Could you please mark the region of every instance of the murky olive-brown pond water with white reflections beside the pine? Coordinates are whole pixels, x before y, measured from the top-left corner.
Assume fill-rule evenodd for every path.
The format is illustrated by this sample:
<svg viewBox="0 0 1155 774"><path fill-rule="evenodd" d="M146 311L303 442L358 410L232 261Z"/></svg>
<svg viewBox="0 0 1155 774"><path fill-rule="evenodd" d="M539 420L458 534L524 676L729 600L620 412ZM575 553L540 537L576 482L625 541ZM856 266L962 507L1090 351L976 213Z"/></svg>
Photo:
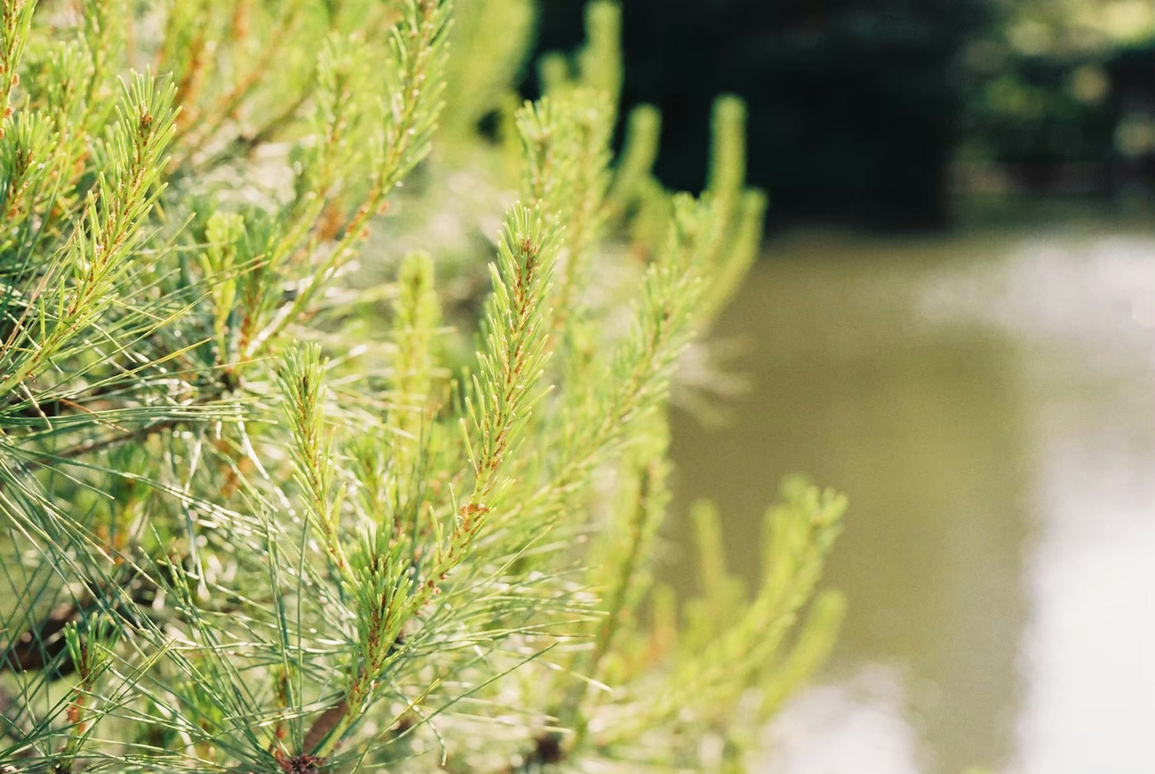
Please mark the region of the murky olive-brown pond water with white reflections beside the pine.
<svg viewBox="0 0 1155 774"><path fill-rule="evenodd" d="M753 578L781 475L851 503L766 772L1155 773L1149 226L777 239L715 337L750 389L676 415L676 511L716 500Z"/></svg>

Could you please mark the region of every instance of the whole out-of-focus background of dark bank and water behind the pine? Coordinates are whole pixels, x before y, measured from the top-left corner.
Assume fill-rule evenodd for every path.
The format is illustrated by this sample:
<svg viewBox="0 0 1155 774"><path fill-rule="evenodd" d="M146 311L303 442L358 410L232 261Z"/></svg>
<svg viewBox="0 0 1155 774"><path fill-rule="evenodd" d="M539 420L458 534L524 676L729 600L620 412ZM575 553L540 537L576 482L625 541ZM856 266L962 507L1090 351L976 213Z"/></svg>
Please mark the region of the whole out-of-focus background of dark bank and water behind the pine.
<svg viewBox="0 0 1155 774"><path fill-rule="evenodd" d="M702 186L733 91L772 202L714 335L745 389L675 417L676 515L716 500L753 576L783 474L851 503L842 640L763 771L1155 772L1155 5L624 6L663 181Z"/></svg>

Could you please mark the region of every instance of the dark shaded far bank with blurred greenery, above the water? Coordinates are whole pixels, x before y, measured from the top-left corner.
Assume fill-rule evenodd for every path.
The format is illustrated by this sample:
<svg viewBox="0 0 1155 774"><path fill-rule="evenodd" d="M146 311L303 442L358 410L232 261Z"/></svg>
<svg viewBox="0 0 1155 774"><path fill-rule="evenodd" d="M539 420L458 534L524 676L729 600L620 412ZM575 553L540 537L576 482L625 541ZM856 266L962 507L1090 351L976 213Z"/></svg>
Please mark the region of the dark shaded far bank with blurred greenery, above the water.
<svg viewBox="0 0 1155 774"><path fill-rule="evenodd" d="M583 5L543 6L538 53L581 43ZM1141 127L1155 120L1155 38L1023 51L1014 35L1029 5L631 0L623 103L662 110L656 171L693 191L711 101L745 97L748 177L770 193L772 229L948 225L976 165L1027 193L1150 195L1155 142ZM537 92L534 73L524 90Z"/></svg>

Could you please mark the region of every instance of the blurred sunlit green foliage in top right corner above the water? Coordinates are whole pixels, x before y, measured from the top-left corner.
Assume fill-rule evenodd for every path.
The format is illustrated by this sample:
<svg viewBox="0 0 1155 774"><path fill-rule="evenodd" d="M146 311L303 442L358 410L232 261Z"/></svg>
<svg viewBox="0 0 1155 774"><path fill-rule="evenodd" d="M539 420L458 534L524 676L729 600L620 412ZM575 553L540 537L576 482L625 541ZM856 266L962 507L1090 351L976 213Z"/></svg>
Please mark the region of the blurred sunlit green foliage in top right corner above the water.
<svg viewBox="0 0 1155 774"><path fill-rule="evenodd" d="M1005 0L964 52L963 158L1053 168L1155 157L1155 7L1142 0ZM1110 178L1101 186L1113 187Z"/></svg>

